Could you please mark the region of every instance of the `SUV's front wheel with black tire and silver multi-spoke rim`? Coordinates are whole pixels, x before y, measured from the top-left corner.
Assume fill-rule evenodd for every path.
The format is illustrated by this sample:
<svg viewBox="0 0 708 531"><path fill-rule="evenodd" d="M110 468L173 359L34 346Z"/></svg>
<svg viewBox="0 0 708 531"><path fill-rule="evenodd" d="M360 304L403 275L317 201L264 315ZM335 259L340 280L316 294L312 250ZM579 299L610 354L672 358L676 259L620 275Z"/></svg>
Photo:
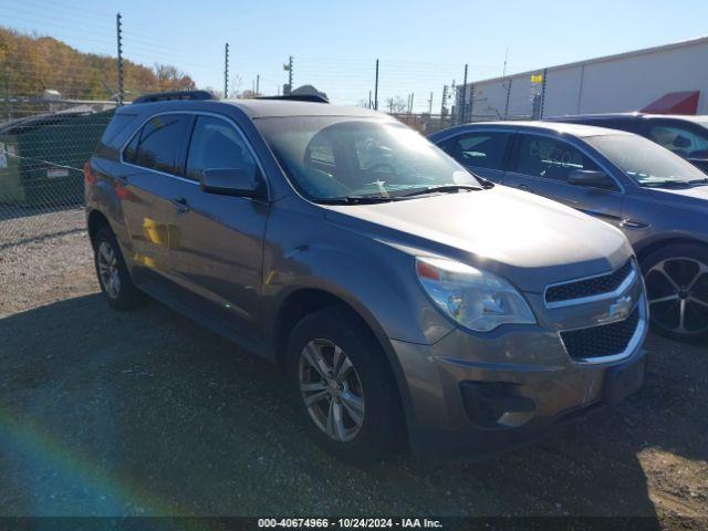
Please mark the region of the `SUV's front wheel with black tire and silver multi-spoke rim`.
<svg viewBox="0 0 708 531"><path fill-rule="evenodd" d="M305 316L290 335L287 362L300 416L321 447L352 465L393 451L402 424L397 387L358 319L337 308Z"/></svg>

